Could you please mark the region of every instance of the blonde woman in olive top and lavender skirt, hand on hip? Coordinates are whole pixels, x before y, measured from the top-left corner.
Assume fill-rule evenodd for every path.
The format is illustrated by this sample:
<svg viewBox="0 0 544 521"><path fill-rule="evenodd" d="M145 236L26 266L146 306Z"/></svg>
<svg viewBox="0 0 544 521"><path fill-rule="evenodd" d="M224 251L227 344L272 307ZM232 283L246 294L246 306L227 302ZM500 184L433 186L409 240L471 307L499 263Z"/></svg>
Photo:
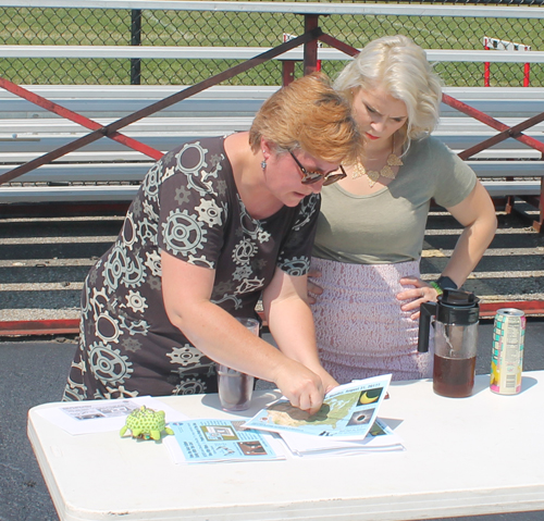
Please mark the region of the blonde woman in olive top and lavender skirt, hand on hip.
<svg viewBox="0 0 544 521"><path fill-rule="evenodd" d="M433 353L417 352L419 307L465 283L494 236L495 210L474 172L430 136L441 82L413 41L370 42L335 88L351 101L367 144L347 177L322 193L318 277L309 285L321 362L339 383L428 377ZM442 276L428 284L419 262L431 199L465 230Z"/></svg>

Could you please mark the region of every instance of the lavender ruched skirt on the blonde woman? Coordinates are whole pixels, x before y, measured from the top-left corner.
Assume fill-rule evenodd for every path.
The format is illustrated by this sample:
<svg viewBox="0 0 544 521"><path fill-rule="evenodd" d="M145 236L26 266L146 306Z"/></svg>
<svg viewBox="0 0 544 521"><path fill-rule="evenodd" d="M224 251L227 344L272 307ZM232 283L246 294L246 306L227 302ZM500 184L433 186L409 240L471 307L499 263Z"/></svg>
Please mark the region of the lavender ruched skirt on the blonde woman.
<svg viewBox="0 0 544 521"><path fill-rule="evenodd" d="M391 373L393 380L432 376L433 343L418 352L415 311L403 311L396 295L403 276L419 277L419 261L348 264L313 258L323 288L311 306L321 363L339 383ZM431 328L432 331L432 328Z"/></svg>

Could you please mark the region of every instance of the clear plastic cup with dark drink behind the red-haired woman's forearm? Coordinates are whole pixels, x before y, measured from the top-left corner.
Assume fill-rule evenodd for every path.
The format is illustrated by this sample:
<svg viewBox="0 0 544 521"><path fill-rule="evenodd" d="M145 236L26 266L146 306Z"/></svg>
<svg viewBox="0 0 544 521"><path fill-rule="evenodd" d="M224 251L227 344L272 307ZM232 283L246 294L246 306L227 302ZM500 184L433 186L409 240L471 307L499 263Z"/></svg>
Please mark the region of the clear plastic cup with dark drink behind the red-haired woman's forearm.
<svg viewBox="0 0 544 521"><path fill-rule="evenodd" d="M254 335L259 336L259 322L255 319L236 319ZM254 376L226 365L218 364L218 392L224 411L245 411L251 405Z"/></svg>

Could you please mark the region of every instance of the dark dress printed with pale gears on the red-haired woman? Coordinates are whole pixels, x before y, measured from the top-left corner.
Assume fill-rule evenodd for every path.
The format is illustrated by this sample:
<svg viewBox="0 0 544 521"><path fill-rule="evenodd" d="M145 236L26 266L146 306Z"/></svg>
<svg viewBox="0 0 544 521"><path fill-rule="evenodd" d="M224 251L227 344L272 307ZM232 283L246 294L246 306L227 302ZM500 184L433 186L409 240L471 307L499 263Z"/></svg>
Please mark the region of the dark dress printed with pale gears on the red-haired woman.
<svg viewBox="0 0 544 521"><path fill-rule="evenodd" d="M223 141L185 144L146 175L116 241L85 281L64 400L217 392L214 362L168 319L161 250L214 269L211 300L234 317L255 315L276 265L308 272L319 196L251 219Z"/></svg>

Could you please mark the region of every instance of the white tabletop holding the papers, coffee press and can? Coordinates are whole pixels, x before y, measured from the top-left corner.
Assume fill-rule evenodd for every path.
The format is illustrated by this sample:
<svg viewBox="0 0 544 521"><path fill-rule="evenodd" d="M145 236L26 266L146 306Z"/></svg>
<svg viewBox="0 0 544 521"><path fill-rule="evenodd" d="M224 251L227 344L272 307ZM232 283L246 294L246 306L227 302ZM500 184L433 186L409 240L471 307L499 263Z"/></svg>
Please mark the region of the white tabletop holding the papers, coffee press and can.
<svg viewBox="0 0 544 521"><path fill-rule="evenodd" d="M174 464L154 442L72 436L30 409L28 436L65 520L411 520L544 509L544 371L516 396L477 376L469 398L431 381L394 382L380 418L401 452ZM258 392L250 417L276 399ZM191 418L235 418L217 395L161 398Z"/></svg>

